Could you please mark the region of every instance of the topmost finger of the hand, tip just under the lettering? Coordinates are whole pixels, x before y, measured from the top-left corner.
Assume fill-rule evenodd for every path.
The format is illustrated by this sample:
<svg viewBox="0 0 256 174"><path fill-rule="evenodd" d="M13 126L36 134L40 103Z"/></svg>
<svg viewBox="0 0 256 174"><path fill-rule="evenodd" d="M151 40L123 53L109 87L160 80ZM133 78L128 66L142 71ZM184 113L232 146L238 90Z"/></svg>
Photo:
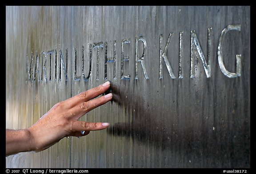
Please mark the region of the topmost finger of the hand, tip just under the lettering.
<svg viewBox="0 0 256 174"><path fill-rule="evenodd" d="M110 87L110 82L107 81L102 85L97 86L96 88L89 89L88 91L77 94L74 97L67 99L65 102L69 104L69 107L72 108L77 104L80 104L85 101L89 101L95 97L98 97L100 94L106 92Z"/></svg>

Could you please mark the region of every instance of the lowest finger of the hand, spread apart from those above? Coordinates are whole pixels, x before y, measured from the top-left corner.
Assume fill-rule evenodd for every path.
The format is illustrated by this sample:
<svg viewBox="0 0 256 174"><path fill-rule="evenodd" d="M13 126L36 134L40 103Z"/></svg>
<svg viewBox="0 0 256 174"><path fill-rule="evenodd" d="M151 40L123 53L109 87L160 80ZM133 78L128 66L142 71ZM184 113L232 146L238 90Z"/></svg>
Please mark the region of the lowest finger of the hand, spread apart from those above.
<svg viewBox="0 0 256 174"><path fill-rule="evenodd" d="M91 123L85 121L73 121L72 131L84 131L84 134L88 131L98 131L108 128L109 123ZM89 132L88 132L89 133Z"/></svg>

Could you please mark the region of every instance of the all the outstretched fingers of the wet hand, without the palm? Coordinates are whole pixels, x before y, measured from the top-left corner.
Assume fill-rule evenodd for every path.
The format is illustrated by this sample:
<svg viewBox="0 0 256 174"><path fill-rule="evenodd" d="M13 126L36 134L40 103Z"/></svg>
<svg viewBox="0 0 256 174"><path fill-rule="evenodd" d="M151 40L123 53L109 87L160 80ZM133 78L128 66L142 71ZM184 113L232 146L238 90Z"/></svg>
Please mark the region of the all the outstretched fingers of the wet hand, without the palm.
<svg viewBox="0 0 256 174"><path fill-rule="evenodd" d="M68 120L72 123L69 124L69 135L66 136L85 136L88 135L90 131L97 131L108 128L108 123L90 123L84 121L78 121L78 119L85 113L91 111L94 108L99 107L102 104L107 103L112 100L112 93L95 98L100 94L106 92L110 87L110 82L99 85L96 88L89 89L83 93L80 93L66 101L62 102L62 105L67 109L65 116L68 114ZM93 99L94 98L94 99Z"/></svg>

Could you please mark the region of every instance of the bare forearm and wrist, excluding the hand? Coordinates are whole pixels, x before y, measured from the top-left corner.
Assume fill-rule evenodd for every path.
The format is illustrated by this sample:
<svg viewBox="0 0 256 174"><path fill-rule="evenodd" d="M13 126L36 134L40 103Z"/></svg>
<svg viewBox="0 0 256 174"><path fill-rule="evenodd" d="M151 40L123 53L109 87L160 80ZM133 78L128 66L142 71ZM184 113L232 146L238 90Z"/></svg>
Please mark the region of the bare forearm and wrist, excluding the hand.
<svg viewBox="0 0 256 174"><path fill-rule="evenodd" d="M6 129L6 156L19 152L33 151L33 138L27 129Z"/></svg>

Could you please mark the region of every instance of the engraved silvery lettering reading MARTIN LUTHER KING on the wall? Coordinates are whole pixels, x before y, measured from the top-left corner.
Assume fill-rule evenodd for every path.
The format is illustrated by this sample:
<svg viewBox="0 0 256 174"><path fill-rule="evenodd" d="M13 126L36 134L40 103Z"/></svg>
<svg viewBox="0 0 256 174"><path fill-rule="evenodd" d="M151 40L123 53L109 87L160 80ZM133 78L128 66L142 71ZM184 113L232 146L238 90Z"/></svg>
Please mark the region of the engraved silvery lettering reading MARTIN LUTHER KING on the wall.
<svg viewBox="0 0 256 174"><path fill-rule="evenodd" d="M220 34L219 40L218 40L218 46L217 46L217 56L218 56L218 64L220 66L221 72L229 78L232 77L240 77L241 76L241 54L236 54L236 70L235 72L229 72L226 67L224 66L224 61L223 61L223 46L224 46L224 39L226 39L226 35L228 31L239 31L241 30L241 25L240 24L232 24L228 25L225 27ZM170 40L172 37L173 33L169 33L168 39L166 44L164 45L164 37L161 34L159 36L160 38L160 63L159 63L159 79L163 78L163 64L165 64L169 76L172 79L175 79L176 76L173 73L172 65L169 62L167 57L167 52L168 48L170 45ZM212 66L212 49L213 49L213 44L212 44L212 27L208 27L207 30L207 44L206 44L206 51L207 54L205 55L202 49L202 46L200 45L198 36L196 34L196 31L192 30L190 31L190 72L188 70L188 74L190 73L190 77L193 78L195 77L195 71L196 71L196 66L199 65L199 62L202 62L202 66L204 67L204 72L206 74L206 77L209 78L211 77L211 66ZM140 42L141 41L141 42ZM229 40L227 40L229 41ZM176 41L178 43L178 40ZM125 45L126 44L126 45ZM126 68L124 64L129 63L129 54L130 52L125 52L125 51L131 51L131 50L126 50L131 48L131 39L122 39L121 40L121 55L120 55L120 61L121 61L121 66L120 66L120 75L121 75L121 80L130 80L131 75L130 74L125 74L124 69ZM180 31L179 32L179 79L182 79L184 77L184 63L186 57L184 57L184 32ZM150 44L152 45L152 44ZM112 44L111 44L112 46ZM101 56L100 50L103 50L104 47L104 56ZM82 46L82 56L81 56L81 65L80 65L80 55L78 56L77 54L77 48L74 47L74 54L71 55L71 59L74 61L74 75L72 79L74 81L80 81L81 80L81 75L83 80L86 82L89 80L92 74L92 51L93 49L96 48L96 77L95 79L99 81L99 73L104 71L104 74L102 74L104 77L104 81L107 81L108 79L113 78L113 80L116 80L117 78L117 73L119 70L117 68L119 66L116 66L116 61L118 59L117 57L117 47L116 47L116 40L113 41L113 54L109 54L110 52L112 53L112 50L110 51L108 48L108 42L105 41L99 42L99 43L93 43L93 44L88 44L88 59L85 60L85 55L84 55L84 45ZM111 47L112 48L112 47ZM146 42L146 39L144 36L140 37L135 37L135 79L137 80L139 78L139 69L140 65L142 68L142 72L144 74L145 79L149 79L148 76L148 71L146 70L146 65L147 63L150 63L150 61L154 60L152 58L151 60L146 59L145 62L145 57L150 57L152 55L147 54L148 51L148 45ZM156 50L155 50L156 51ZM57 55L59 54L59 55ZM142 54L142 55L140 55ZM74 57L73 57L74 56ZM58 52L57 50L48 50L48 51L41 51L41 52L31 52L31 54L27 54L27 61L26 61L26 82L40 82L40 81L52 81L54 79L55 81L61 81L62 78L65 78L65 81L68 81L68 76L71 74L72 71L68 71L68 49L65 48L65 53L64 49L60 49ZM79 57L79 59L78 59ZM172 58L172 56L170 56ZM100 61L104 61L104 70L100 70ZM104 60L103 60L104 59ZM189 59L189 58L188 58ZM200 60L199 60L200 59ZM189 60L188 60L189 61ZM88 62L88 64L87 64ZM127 62L127 63L125 63ZM103 63L103 62L102 62ZM113 64L112 64L113 63ZM140 65L139 65L140 64ZM73 66L72 65L72 66ZM88 66L85 66L88 65ZM178 66L178 65L176 65ZM110 67L113 67L111 69ZM153 66L152 66L153 67ZM82 74L80 74L80 68ZM112 70L113 70L113 75L112 75ZM111 73L108 74L108 73ZM54 76L54 77L53 77Z"/></svg>

